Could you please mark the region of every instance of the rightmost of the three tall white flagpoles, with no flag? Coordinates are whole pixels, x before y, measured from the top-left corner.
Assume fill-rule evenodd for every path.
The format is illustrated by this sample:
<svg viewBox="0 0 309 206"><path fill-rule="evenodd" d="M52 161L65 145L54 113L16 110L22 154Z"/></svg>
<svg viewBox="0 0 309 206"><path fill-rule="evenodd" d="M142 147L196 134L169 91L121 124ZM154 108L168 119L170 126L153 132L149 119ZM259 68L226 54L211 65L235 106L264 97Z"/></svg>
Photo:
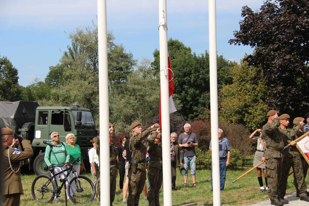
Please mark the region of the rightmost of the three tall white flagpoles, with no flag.
<svg viewBox="0 0 309 206"><path fill-rule="evenodd" d="M212 147L213 204L221 205L220 168L219 168L219 134L218 134L218 82L217 82L217 32L216 0L208 1L209 9L209 61L210 61L210 123Z"/></svg>

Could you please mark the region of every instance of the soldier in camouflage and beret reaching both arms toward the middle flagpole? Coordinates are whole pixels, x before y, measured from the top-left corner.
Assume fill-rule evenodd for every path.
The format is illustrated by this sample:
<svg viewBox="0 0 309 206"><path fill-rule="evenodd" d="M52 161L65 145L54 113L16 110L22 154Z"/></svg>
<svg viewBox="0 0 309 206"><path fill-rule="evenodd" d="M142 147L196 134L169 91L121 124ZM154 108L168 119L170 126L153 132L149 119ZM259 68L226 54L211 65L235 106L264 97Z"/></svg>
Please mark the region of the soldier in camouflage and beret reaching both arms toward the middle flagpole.
<svg viewBox="0 0 309 206"><path fill-rule="evenodd" d="M139 196L143 191L146 180L146 144L143 141L148 136L152 128L158 128L159 124L154 124L147 129L142 130L139 122L131 124L133 137L129 141L129 149L132 152L132 159L129 164L129 196L128 206L137 206Z"/></svg>

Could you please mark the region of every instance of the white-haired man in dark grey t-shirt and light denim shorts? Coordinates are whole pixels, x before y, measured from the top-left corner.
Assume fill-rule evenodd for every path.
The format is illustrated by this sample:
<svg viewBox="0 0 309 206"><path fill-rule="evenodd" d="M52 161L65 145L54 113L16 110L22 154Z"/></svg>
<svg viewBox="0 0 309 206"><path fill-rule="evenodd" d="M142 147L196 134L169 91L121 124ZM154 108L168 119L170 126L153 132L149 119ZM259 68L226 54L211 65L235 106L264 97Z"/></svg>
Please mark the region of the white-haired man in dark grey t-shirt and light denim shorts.
<svg viewBox="0 0 309 206"><path fill-rule="evenodd" d="M184 125L184 133L179 135L178 143L179 147L182 148L182 152L184 153L184 168L186 169L186 174L184 174L184 184L182 186L187 185L188 180L188 169L190 164L191 176L193 181L193 186L197 187L197 183L195 183L195 175L196 175L196 152L195 147L198 146L197 136L195 133L190 131L191 125Z"/></svg>

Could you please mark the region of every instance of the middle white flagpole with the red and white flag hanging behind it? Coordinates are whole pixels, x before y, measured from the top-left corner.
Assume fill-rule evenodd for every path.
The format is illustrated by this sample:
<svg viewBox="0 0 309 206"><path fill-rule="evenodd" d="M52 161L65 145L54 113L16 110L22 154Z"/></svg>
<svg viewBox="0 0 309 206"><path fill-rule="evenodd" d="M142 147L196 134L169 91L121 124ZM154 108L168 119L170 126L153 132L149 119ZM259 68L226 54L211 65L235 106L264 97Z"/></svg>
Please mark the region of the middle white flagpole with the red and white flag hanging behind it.
<svg viewBox="0 0 309 206"><path fill-rule="evenodd" d="M172 205L171 183L171 145L170 145L170 112L168 91L167 60L167 15L166 0L159 0L159 44L160 44L160 87L161 87L161 126L163 157L163 200L164 206Z"/></svg>

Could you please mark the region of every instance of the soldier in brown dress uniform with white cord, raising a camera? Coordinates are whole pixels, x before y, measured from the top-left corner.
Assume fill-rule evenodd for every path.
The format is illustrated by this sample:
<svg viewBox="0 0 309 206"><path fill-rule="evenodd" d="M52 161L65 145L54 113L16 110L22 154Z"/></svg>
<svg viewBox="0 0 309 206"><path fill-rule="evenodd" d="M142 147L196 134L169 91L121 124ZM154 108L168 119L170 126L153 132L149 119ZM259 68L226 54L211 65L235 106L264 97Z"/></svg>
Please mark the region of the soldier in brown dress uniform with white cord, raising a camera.
<svg viewBox="0 0 309 206"><path fill-rule="evenodd" d="M20 202L20 194L23 194L23 186L20 178L21 161L31 158L33 156L33 150L29 140L22 141L24 151L12 148L19 141L13 138L13 130L9 128L1 129L1 139L4 157L3 205L17 206Z"/></svg>

